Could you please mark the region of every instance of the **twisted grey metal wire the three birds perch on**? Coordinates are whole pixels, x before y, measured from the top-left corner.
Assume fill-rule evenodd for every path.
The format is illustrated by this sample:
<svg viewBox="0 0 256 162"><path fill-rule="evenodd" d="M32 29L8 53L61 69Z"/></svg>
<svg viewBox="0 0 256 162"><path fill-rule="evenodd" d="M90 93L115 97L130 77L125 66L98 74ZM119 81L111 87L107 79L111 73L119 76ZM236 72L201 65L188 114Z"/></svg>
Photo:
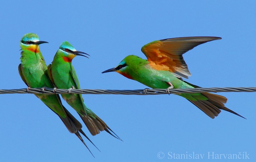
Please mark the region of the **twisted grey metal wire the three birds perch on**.
<svg viewBox="0 0 256 162"><path fill-rule="evenodd" d="M0 89L0 94L110 94L110 95L162 95L177 93L203 92L256 92L256 87L227 87L227 88L188 88L188 89L137 89L137 90L105 90L105 89L57 89L57 88L22 88Z"/></svg>

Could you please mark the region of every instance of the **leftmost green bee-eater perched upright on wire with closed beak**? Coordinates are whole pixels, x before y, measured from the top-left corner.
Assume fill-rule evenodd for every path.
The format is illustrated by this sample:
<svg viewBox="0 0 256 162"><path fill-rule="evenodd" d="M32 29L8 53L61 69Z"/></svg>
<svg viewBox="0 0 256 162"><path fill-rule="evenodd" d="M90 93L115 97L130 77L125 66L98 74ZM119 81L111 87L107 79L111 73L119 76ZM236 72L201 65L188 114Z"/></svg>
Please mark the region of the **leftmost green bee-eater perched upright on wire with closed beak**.
<svg viewBox="0 0 256 162"><path fill-rule="evenodd" d="M39 41L39 37L33 33L25 34L20 41L21 64L19 65L19 74L21 79L30 88L53 88L53 84L47 73L47 66L39 50L39 45L42 43L48 42ZM62 105L59 95L36 94L36 97L38 97L46 106L56 113L60 117L61 121L65 124L69 132L76 134L76 136L87 147L80 133L82 133L90 142L91 140L83 132L82 124L76 120L76 118L72 116ZM87 149L89 150L88 147Z"/></svg>

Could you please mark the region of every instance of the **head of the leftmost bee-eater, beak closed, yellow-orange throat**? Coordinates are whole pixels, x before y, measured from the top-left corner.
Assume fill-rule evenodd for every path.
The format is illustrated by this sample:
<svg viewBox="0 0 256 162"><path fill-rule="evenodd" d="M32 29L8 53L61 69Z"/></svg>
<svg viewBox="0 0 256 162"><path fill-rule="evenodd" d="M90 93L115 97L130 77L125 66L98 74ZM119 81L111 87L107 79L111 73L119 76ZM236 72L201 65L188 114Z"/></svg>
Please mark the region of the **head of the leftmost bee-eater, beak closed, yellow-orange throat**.
<svg viewBox="0 0 256 162"><path fill-rule="evenodd" d="M48 43L45 41L39 41L38 35L34 33L25 34L20 40L20 47L22 50L29 50L37 53L39 50L38 45Z"/></svg>

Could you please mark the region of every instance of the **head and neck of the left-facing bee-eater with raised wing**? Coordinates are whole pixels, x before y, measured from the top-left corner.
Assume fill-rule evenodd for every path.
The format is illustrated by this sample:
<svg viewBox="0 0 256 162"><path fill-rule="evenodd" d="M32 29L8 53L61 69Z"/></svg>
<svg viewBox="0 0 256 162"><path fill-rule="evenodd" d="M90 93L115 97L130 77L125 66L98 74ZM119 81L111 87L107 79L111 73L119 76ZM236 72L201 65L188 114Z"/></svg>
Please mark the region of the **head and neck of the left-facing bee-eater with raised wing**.
<svg viewBox="0 0 256 162"><path fill-rule="evenodd" d="M126 56L116 67L105 70L102 74L115 71L129 79L132 79L132 75L136 72L142 61L143 59L138 56L129 55Z"/></svg>

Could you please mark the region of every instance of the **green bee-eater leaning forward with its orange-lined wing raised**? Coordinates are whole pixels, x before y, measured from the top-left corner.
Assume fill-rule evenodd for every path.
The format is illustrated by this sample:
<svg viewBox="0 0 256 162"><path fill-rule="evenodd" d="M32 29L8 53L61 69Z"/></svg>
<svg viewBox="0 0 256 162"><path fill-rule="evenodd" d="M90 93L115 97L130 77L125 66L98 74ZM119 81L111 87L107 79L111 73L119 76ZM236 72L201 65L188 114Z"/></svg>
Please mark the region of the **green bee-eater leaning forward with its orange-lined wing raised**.
<svg viewBox="0 0 256 162"><path fill-rule="evenodd" d="M129 55L116 67L102 73L115 71L151 88L199 88L196 85L183 81L181 78L191 76L182 54L200 44L218 39L221 38L183 37L156 40L141 48L141 51L148 60L141 59L135 55ZM212 119L218 116L221 111L220 109L241 116L224 106L227 98L221 95L211 93L182 93L177 95L186 98Z"/></svg>

